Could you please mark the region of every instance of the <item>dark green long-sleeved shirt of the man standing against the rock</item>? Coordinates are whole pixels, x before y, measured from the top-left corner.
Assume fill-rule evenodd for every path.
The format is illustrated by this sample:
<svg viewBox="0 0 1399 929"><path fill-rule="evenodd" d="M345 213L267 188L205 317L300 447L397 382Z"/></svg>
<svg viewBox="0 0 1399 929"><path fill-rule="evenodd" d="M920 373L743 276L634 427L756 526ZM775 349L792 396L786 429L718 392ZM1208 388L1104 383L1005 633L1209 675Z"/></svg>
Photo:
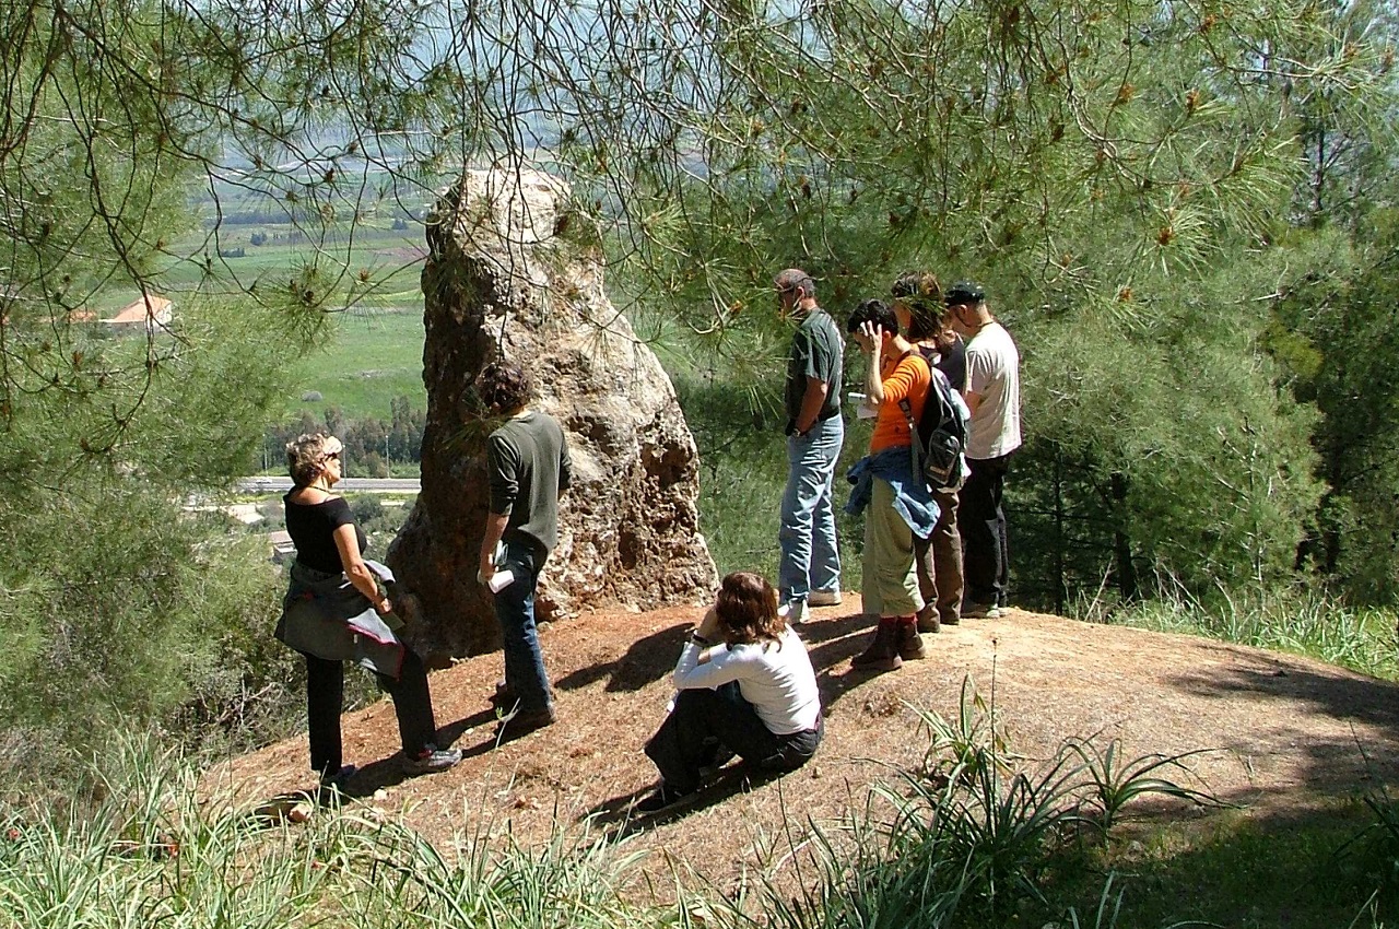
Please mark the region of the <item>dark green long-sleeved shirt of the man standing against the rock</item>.
<svg viewBox="0 0 1399 929"><path fill-rule="evenodd" d="M574 477L564 430L530 410L491 432L485 448L491 512L509 515L505 537L527 536L544 551L558 544L558 495Z"/></svg>

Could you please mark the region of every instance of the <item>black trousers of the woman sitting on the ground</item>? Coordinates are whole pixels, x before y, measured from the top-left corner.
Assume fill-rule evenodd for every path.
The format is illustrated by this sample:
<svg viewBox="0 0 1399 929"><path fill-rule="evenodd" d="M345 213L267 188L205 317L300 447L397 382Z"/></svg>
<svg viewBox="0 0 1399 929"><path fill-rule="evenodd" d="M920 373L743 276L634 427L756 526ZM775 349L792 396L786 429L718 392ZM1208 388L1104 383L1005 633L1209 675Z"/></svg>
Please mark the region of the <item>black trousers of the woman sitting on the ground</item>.
<svg viewBox="0 0 1399 929"><path fill-rule="evenodd" d="M748 764L793 771L816 754L823 732L818 723L814 732L774 735L743 698L739 683L730 681L676 694L676 708L646 743L646 754L666 786L690 793L700 788L700 768L713 761L719 743Z"/></svg>

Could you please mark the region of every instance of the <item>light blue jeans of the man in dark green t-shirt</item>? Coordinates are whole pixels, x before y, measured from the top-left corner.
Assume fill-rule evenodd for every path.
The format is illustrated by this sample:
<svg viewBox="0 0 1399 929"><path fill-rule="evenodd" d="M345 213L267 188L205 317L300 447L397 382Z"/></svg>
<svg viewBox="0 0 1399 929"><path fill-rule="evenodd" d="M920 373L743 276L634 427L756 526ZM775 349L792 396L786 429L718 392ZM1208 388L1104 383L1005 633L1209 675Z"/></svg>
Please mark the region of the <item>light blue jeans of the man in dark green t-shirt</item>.
<svg viewBox="0 0 1399 929"><path fill-rule="evenodd" d="M782 494L778 596L806 600L811 590L841 589L831 483L845 441L841 416L821 420L806 435L788 437L788 485Z"/></svg>

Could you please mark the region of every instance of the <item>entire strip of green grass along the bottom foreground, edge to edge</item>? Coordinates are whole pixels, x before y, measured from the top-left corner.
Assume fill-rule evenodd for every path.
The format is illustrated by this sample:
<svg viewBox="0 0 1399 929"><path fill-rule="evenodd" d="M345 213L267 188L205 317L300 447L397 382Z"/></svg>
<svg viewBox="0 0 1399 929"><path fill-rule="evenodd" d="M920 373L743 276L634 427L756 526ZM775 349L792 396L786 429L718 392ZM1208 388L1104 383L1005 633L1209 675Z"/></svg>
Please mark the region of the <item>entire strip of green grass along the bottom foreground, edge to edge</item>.
<svg viewBox="0 0 1399 929"><path fill-rule="evenodd" d="M964 687L956 719L919 711L923 760L867 796L856 788L845 820L790 810L790 839L811 856L803 887L758 872L743 894L681 886L669 907L644 897L625 844L586 825L534 848L488 841L508 834L499 824L435 848L358 803L288 825L277 813L295 797L260 811L207 803L193 760L118 735L85 789L0 804L0 925L1374 929L1393 912L1399 811L1386 799L1143 817L1084 763L1101 746L1027 761L990 714ZM1170 796L1170 761L1121 760L1114 796Z"/></svg>

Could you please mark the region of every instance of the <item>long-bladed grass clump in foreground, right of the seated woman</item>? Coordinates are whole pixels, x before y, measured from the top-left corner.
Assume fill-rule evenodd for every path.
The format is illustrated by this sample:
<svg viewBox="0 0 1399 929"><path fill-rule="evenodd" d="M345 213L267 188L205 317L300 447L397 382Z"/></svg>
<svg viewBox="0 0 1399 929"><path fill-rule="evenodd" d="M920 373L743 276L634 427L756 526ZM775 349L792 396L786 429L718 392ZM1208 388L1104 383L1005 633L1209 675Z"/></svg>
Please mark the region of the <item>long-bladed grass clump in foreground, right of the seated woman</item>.
<svg viewBox="0 0 1399 929"><path fill-rule="evenodd" d="M758 911L782 929L1115 926L1122 891L1108 874L1079 901L1086 852L1146 796L1210 803L1167 775L1185 756L1123 760L1121 744L1066 740L1039 764L1014 756L970 679L956 719L918 709L929 750L921 768L876 786L839 828L814 828L817 888L768 884ZM1060 891L1060 886L1073 890ZM1035 922L1039 921L1039 922Z"/></svg>

